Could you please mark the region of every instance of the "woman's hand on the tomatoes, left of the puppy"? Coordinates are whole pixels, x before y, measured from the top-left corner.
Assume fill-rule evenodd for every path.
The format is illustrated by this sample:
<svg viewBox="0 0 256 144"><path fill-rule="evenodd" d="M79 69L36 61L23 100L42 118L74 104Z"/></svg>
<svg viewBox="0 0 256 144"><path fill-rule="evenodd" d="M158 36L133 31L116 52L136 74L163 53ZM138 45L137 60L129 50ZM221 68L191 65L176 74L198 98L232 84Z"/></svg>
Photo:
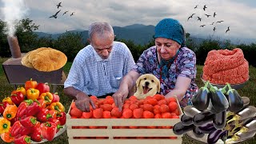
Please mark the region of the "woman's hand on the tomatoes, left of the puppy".
<svg viewBox="0 0 256 144"><path fill-rule="evenodd" d="M114 98L115 106L118 106L119 111L122 111L123 102L127 98L129 90L119 89L116 93L112 95Z"/></svg>

